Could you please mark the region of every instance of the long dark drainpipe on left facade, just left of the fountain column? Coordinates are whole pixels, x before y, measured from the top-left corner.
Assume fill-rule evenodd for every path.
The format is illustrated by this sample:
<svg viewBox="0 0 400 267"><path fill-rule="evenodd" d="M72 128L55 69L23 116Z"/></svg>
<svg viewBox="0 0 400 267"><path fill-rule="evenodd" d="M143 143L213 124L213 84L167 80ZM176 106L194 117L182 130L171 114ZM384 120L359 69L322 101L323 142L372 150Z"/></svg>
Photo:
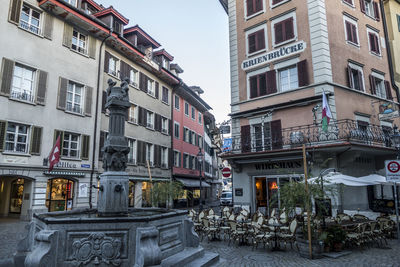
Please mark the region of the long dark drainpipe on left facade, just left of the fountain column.
<svg viewBox="0 0 400 267"><path fill-rule="evenodd" d="M103 45L106 40L111 37L113 33L113 29L110 29L110 33L103 39L99 49L99 66L97 68L97 90L96 90L96 109L94 113L94 130L93 130L93 151L92 151L92 171L90 172L90 185L89 185L89 208L93 207L92 204L92 189L93 189L93 175L94 175L94 164L96 159L96 138L97 138L97 117L98 117L98 109L99 109L99 94L100 94L100 74L101 74L101 55ZM101 148L100 148L101 149Z"/></svg>

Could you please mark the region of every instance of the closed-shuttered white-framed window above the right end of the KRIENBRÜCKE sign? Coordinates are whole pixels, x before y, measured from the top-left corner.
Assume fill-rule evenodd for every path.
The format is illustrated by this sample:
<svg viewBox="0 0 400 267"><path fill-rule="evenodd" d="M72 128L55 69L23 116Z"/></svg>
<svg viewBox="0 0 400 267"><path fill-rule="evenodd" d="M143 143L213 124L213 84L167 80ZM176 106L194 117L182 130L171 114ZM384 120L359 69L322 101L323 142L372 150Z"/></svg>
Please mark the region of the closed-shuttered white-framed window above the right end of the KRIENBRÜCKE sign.
<svg viewBox="0 0 400 267"><path fill-rule="evenodd" d="M275 45L287 43L297 37L296 17L294 13L288 14L272 22L273 43Z"/></svg>

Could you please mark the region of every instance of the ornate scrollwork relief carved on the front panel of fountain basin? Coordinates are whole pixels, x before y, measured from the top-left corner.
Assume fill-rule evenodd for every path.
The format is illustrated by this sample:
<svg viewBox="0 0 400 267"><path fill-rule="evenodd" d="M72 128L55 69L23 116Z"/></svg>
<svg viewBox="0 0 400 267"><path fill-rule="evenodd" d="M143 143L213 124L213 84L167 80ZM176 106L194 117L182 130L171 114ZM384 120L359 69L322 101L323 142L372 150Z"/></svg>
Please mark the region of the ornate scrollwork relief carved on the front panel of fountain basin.
<svg viewBox="0 0 400 267"><path fill-rule="evenodd" d="M98 265L121 265L121 240L106 236L104 233L91 233L88 237L72 244L73 258L78 266L88 263Z"/></svg>

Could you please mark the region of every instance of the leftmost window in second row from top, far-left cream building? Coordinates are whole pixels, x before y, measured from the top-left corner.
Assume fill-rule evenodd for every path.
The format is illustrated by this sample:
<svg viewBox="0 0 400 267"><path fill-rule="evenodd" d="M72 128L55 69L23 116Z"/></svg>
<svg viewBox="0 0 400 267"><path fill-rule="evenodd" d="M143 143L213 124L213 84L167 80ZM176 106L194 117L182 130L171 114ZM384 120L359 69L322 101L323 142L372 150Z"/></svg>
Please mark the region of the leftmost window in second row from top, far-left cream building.
<svg viewBox="0 0 400 267"><path fill-rule="evenodd" d="M15 64L11 87L11 98L33 102L35 70Z"/></svg>

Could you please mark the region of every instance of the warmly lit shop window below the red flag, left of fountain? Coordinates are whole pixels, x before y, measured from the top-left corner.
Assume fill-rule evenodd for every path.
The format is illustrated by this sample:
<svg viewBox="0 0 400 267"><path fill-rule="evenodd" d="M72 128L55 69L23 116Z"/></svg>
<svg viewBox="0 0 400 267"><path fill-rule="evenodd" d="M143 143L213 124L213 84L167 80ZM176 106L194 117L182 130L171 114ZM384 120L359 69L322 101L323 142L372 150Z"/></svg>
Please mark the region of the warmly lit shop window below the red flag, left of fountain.
<svg viewBox="0 0 400 267"><path fill-rule="evenodd" d="M46 207L49 211L72 210L74 181L54 178L47 181Z"/></svg>

